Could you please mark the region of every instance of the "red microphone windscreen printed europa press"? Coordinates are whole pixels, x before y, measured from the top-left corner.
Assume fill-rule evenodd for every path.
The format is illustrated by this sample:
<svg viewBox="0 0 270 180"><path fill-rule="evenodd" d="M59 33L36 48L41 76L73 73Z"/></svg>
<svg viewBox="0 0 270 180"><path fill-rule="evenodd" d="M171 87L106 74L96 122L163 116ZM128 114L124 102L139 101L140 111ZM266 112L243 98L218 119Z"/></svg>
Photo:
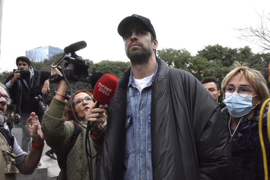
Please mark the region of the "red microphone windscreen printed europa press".
<svg viewBox="0 0 270 180"><path fill-rule="evenodd" d="M118 85L115 75L105 74L97 82L93 91L94 100L107 104L114 96Z"/></svg>

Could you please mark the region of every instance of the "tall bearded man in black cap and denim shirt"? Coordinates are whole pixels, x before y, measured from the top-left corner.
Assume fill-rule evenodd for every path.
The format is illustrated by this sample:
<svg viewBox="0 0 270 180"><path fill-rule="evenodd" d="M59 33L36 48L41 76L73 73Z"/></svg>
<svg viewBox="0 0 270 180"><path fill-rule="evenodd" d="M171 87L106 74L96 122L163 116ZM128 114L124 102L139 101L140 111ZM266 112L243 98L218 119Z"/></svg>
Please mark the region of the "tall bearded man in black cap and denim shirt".
<svg viewBox="0 0 270 180"><path fill-rule="evenodd" d="M118 80L97 179L231 179L220 107L194 76L156 56L148 18L118 25L131 67Z"/></svg>

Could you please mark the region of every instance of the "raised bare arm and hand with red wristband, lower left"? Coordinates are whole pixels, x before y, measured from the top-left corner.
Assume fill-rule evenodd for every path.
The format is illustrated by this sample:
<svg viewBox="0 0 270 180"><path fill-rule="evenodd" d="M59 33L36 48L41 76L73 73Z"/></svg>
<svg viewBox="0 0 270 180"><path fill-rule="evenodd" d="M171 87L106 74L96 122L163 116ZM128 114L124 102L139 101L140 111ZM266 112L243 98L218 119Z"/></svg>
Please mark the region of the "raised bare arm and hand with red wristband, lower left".
<svg viewBox="0 0 270 180"><path fill-rule="evenodd" d="M44 146L44 138L41 131L41 125L35 113L32 112L30 114L26 125L29 126L27 130L33 139L32 148L25 156L24 161L18 165L18 168L21 174L32 174L40 161Z"/></svg>

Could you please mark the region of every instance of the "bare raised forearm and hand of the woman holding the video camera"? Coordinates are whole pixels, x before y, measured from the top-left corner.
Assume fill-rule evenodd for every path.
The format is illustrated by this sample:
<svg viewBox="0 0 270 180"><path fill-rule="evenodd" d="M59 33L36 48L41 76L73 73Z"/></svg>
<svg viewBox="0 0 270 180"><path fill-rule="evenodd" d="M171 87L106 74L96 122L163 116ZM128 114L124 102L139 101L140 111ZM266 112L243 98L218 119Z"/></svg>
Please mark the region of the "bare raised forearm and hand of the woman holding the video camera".
<svg viewBox="0 0 270 180"><path fill-rule="evenodd" d="M58 75L61 75L61 72L58 70L58 69L61 69L60 66L58 66L57 68L52 68L51 67L51 75L55 75L55 74L58 74ZM57 83L57 86L58 86L58 89L57 89L57 92L55 94L55 98L60 100L60 101L63 101L64 99L64 95L66 93L66 79L62 79L60 80L58 83Z"/></svg>

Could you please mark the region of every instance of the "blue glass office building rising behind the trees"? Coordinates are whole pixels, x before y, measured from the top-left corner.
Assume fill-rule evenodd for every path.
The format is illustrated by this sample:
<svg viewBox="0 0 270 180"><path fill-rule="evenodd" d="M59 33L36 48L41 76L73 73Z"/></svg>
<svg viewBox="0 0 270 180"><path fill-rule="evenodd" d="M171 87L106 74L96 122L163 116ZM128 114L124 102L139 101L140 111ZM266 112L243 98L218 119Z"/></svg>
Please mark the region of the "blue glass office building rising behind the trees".
<svg viewBox="0 0 270 180"><path fill-rule="evenodd" d="M25 56L33 62L40 62L44 59L50 59L54 54L63 53L64 50L53 46L44 46L25 51Z"/></svg>

